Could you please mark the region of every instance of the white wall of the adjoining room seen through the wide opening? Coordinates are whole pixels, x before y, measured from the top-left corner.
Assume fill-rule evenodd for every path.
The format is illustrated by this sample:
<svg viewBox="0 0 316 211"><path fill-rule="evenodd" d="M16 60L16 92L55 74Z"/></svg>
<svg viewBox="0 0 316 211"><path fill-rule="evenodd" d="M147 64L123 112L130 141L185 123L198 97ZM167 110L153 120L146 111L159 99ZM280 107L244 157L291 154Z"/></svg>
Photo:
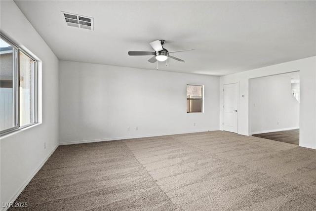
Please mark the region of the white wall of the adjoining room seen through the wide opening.
<svg viewBox="0 0 316 211"><path fill-rule="evenodd" d="M250 79L249 96L252 134L299 128L300 105L289 77Z"/></svg>

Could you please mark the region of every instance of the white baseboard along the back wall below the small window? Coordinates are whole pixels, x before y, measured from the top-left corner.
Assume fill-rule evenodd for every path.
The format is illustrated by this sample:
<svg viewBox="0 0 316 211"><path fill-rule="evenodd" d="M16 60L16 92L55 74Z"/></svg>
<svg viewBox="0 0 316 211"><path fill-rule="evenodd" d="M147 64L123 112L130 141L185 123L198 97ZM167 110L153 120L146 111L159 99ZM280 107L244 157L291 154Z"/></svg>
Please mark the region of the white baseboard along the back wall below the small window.
<svg viewBox="0 0 316 211"><path fill-rule="evenodd" d="M133 139L133 138L148 138L148 137L155 137L155 136L178 135L178 134L207 132L207 131L215 131L215 130L218 130L218 128L210 129L210 130L189 131L189 132L185 131L185 132L176 132L176 133L163 133L163 134L140 135L140 136L123 136L123 137L116 137L116 138L103 138L103 139L82 140L82 141L67 141L67 142L61 142L61 143L59 143L59 145L85 144L85 143L102 142L102 141L116 141L116 140L125 140L125 139Z"/></svg>

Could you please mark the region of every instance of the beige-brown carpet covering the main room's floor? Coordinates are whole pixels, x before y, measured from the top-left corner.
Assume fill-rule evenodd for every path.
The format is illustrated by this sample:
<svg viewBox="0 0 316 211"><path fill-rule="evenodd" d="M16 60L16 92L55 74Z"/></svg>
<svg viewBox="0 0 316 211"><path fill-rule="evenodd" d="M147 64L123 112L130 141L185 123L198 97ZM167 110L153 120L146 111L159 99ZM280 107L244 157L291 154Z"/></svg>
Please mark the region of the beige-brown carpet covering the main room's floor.
<svg viewBox="0 0 316 211"><path fill-rule="evenodd" d="M312 211L316 150L223 131L60 146L16 202L31 211Z"/></svg>

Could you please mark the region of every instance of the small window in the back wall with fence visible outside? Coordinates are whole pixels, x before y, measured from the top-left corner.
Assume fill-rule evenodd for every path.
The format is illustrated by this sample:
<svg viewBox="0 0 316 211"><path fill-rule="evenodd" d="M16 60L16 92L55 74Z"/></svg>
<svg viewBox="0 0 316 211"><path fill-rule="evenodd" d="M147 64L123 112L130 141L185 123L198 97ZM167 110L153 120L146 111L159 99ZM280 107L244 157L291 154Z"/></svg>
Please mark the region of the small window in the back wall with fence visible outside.
<svg viewBox="0 0 316 211"><path fill-rule="evenodd" d="M203 112L203 85L187 84L187 113Z"/></svg>

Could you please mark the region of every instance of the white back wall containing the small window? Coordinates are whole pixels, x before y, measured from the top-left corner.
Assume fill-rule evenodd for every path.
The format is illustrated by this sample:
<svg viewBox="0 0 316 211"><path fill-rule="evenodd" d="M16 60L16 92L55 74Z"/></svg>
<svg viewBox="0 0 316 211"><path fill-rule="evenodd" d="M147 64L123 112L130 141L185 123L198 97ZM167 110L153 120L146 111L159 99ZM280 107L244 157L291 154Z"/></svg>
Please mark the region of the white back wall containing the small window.
<svg viewBox="0 0 316 211"><path fill-rule="evenodd" d="M61 144L219 129L219 77L70 61L59 71ZM204 85L204 113L186 113L187 84Z"/></svg>

